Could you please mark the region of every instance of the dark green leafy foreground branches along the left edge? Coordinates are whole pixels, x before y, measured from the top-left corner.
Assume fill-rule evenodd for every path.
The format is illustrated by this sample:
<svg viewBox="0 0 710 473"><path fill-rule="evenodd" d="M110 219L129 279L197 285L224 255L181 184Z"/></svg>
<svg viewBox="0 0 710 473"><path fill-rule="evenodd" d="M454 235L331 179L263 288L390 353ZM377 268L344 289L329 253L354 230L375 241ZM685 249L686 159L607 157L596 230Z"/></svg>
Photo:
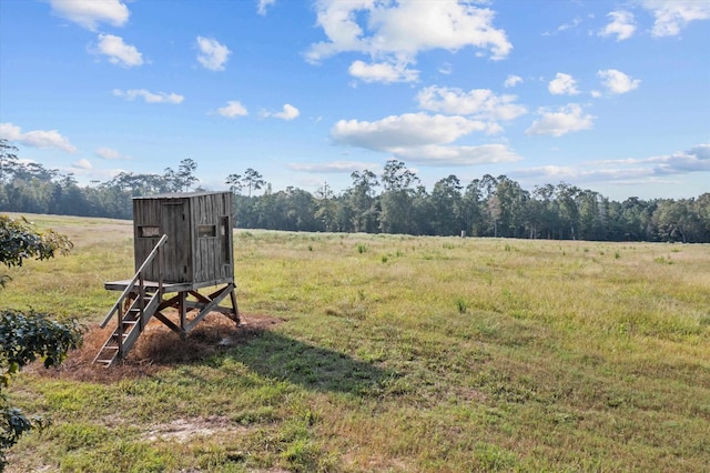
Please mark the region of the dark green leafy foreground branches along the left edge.
<svg viewBox="0 0 710 473"><path fill-rule="evenodd" d="M62 234L51 230L41 233L24 219L0 215L0 263L8 268L20 266L28 258L45 260L70 249L71 242ZM2 286L8 279L0 278ZM41 417L30 420L10 404L6 390L11 376L37 359L42 359L45 368L57 366L80 343L75 321L59 323L36 312L0 311L0 471L7 464L6 451L23 433L45 425Z"/></svg>

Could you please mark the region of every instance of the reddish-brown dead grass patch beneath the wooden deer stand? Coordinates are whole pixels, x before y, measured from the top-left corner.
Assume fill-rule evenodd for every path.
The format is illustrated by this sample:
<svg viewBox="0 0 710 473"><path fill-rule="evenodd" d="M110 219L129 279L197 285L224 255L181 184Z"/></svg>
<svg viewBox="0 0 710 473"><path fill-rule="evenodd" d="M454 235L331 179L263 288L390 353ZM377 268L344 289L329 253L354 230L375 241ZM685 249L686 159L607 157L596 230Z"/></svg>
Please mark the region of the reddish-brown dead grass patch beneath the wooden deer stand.
<svg viewBox="0 0 710 473"><path fill-rule="evenodd" d="M179 324L175 315L169 318ZM213 312L207 314L184 340L159 320L153 319L135 342L124 361L111 366L93 364L93 359L108 340L114 326L105 329L98 324L88 326L83 344L73 350L58 369L45 370L41 363L28 366L28 372L40 376L63 380L113 383L121 380L140 379L153 375L180 363L204 360L230 346L239 345L258 336L263 331L283 322L281 319L264 314L241 314L242 324Z"/></svg>

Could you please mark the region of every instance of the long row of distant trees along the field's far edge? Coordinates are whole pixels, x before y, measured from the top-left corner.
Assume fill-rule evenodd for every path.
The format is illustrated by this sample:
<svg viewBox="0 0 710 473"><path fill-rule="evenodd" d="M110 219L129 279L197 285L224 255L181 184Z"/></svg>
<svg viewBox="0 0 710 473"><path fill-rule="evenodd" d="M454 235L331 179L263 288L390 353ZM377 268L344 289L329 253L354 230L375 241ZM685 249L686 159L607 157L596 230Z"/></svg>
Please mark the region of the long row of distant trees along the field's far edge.
<svg viewBox="0 0 710 473"><path fill-rule="evenodd" d="M72 174L21 162L7 141L0 147L0 211L131 219L133 197L205 190L192 159L162 174L123 172L80 187ZM468 183L450 174L428 191L398 160L387 161L381 175L364 170L351 178L339 193L327 183L314 193L294 187L274 191L250 168L229 174L225 184L235 195L235 225L243 229L710 242L710 193L618 202L564 182L528 191L506 175L490 174Z"/></svg>

